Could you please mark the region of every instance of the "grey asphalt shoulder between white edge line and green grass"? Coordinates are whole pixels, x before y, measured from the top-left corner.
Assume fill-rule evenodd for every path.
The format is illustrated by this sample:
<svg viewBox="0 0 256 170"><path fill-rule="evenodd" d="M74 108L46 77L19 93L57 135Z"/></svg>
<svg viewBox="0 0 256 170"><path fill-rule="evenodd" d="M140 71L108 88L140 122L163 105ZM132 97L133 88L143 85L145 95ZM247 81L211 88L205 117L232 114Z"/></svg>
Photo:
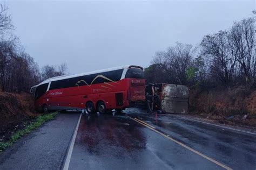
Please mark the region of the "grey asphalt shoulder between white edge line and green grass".
<svg viewBox="0 0 256 170"><path fill-rule="evenodd" d="M59 114L55 120L19 139L0 153L0 169L59 169L79 114Z"/></svg>

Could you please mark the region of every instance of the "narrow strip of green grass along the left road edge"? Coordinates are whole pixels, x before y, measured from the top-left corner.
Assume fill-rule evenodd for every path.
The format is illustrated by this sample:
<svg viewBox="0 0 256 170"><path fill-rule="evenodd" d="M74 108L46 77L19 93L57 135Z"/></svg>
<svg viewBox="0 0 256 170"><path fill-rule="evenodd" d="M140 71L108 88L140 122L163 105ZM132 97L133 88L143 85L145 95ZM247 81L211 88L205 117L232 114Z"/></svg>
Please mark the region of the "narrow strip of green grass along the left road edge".
<svg viewBox="0 0 256 170"><path fill-rule="evenodd" d="M39 128L42 124L44 124L47 121L50 121L51 119L55 118L57 116L58 112L53 112L51 114L38 116L36 118L36 121L27 125L25 129L19 130L15 134L12 134L10 139L8 141L2 142L0 141L0 152L5 150L5 148L11 146L14 144L19 138L24 136L25 134L30 133L32 130Z"/></svg>

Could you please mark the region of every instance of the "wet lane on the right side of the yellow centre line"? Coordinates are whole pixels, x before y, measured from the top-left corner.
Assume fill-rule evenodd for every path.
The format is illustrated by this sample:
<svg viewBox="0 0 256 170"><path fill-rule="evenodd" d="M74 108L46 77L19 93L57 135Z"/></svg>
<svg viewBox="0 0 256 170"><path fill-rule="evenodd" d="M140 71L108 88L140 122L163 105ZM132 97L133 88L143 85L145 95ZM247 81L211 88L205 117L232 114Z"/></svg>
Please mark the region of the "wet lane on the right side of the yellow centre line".
<svg viewBox="0 0 256 170"><path fill-rule="evenodd" d="M181 143L233 169L256 169L256 136L172 115L133 114Z"/></svg>

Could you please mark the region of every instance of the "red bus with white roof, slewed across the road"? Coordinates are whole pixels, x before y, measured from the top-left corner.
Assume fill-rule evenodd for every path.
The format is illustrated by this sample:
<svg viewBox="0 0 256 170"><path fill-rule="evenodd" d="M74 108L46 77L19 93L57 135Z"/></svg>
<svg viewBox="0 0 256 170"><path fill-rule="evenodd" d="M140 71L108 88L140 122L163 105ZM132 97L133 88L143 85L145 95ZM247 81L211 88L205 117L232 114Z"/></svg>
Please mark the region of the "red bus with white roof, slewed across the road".
<svg viewBox="0 0 256 170"><path fill-rule="evenodd" d="M86 109L103 114L145 101L145 79L142 67L119 66L52 77L31 87L31 93L39 111Z"/></svg>

